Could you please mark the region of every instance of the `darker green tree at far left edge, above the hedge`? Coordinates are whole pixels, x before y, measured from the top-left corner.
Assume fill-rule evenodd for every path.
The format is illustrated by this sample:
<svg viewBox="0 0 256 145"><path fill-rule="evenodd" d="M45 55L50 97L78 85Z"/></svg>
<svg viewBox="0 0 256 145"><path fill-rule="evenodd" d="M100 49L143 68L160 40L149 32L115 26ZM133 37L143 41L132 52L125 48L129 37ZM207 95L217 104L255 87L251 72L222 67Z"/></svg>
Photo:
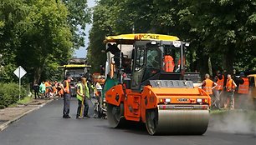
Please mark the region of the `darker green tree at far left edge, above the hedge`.
<svg viewBox="0 0 256 145"><path fill-rule="evenodd" d="M20 44L18 31L28 13L28 5L23 0L0 1L0 54L1 58L0 81L13 82L13 71L17 65L15 56Z"/></svg>

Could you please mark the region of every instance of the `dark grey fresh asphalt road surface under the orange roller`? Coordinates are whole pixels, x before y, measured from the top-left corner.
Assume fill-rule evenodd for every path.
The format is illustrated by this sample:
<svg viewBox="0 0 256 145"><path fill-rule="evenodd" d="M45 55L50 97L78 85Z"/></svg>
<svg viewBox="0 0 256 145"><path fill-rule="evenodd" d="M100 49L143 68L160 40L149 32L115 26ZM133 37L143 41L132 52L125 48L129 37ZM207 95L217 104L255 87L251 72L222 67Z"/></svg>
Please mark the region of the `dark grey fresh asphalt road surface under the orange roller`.
<svg viewBox="0 0 256 145"><path fill-rule="evenodd" d="M0 133L0 145L253 145L253 132L234 132L210 122L207 133L202 136L150 136L144 126L114 129L105 119L75 119L77 102L71 101L70 119L62 118L63 100L55 100L14 122ZM90 115L92 107L90 107ZM231 120L237 120L233 118ZM229 121L229 120L228 120ZM220 122L217 122L220 123ZM240 127L239 130L243 130Z"/></svg>

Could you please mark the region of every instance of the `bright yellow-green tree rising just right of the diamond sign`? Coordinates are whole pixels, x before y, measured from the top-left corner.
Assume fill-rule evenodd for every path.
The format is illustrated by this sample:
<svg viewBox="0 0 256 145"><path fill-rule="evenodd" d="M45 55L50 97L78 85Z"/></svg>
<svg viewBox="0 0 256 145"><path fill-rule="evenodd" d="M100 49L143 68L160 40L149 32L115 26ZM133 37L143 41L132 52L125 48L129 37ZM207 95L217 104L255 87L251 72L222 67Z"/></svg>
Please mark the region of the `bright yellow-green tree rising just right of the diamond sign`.
<svg viewBox="0 0 256 145"><path fill-rule="evenodd" d="M16 61L39 81L47 62L60 62L71 57L72 34L67 23L68 10L55 0L28 2L26 30L20 32Z"/></svg>

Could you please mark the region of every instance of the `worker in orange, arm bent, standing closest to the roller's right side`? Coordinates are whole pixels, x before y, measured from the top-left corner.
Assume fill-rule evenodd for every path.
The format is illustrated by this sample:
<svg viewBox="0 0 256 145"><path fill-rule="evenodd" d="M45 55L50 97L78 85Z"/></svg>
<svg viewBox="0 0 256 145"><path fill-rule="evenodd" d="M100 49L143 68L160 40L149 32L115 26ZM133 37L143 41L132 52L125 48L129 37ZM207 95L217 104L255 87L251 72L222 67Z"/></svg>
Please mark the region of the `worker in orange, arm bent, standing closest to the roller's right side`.
<svg viewBox="0 0 256 145"><path fill-rule="evenodd" d="M211 79L210 79L210 75L209 74L205 74L205 80L202 81L202 89L207 92L207 94L212 98L212 102L214 101L213 100L213 93L212 93L212 90L217 87L217 83L216 82L213 82Z"/></svg>

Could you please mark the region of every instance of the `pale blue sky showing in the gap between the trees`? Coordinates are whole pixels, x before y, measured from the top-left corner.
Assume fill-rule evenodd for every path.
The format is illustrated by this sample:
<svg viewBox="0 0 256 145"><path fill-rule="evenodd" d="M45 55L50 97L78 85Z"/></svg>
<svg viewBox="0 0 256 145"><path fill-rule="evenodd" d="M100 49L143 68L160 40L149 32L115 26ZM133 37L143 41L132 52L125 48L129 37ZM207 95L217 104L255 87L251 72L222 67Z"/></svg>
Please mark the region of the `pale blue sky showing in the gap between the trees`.
<svg viewBox="0 0 256 145"><path fill-rule="evenodd" d="M88 7L95 6L95 0L87 0L87 2L88 2ZM89 37L90 28L91 28L91 25L89 25L89 24L86 25L86 28L85 28L86 37L84 37L85 47L80 47L78 50L75 50L74 54L73 54L74 57L86 57L86 54L87 54L86 48L88 47L88 44L89 44L88 37Z"/></svg>

